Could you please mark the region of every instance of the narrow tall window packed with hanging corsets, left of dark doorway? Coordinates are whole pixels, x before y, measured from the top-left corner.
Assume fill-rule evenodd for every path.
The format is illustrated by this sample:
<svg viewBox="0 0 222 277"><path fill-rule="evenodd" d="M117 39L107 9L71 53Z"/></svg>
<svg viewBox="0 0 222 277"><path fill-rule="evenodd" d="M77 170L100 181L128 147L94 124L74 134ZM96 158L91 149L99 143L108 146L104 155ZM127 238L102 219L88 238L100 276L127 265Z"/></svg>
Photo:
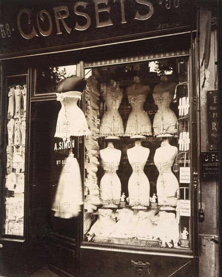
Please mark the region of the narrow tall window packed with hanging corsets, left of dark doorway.
<svg viewBox="0 0 222 277"><path fill-rule="evenodd" d="M8 116L5 181L5 230L23 236L27 76L7 78Z"/></svg>

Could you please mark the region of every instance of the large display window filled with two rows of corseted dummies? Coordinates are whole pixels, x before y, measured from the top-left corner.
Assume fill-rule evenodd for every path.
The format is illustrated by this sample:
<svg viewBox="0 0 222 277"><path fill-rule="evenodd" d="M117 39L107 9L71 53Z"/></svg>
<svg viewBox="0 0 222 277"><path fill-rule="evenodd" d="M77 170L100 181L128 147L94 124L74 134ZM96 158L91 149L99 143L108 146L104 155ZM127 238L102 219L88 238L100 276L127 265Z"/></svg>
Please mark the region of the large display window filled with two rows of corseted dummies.
<svg viewBox="0 0 222 277"><path fill-rule="evenodd" d="M188 66L168 58L85 71L84 241L190 249Z"/></svg>

